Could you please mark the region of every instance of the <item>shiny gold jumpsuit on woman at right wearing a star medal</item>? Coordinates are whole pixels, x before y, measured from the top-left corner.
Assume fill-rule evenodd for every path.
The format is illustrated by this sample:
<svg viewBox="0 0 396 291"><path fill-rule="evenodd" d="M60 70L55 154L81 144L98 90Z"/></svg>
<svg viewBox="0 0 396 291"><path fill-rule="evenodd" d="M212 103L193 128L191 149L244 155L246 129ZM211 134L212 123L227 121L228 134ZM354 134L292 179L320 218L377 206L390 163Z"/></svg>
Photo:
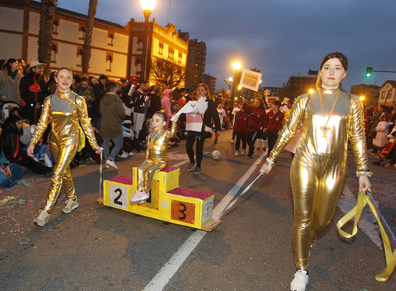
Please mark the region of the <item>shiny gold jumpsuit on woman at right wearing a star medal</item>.
<svg viewBox="0 0 396 291"><path fill-rule="evenodd" d="M338 89L320 88L303 94L294 103L289 119L269 158L274 161L293 138L303 122L300 143L291 163L290 179L294 196L293 249L297 269L308 270L310 241L333 217L347 178L348 136L358 171L368 169L363 105L356 95L341 92L323 137L324 126L335 102Z"/></svg>

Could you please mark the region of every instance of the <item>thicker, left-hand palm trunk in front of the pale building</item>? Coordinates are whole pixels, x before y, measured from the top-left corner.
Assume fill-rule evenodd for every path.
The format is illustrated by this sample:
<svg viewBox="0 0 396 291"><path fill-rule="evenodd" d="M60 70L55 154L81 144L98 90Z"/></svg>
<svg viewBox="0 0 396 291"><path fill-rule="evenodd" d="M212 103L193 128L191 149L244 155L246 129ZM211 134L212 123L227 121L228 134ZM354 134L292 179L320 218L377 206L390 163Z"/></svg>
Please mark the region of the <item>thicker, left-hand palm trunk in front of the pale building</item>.
<svg viewBox="0 0 396 291"><path fill-rule="evenodd" d="M44 76L51 61L51 42L57 0L41 0L40 29L38 31L38 61L45 63Z"/></svg>

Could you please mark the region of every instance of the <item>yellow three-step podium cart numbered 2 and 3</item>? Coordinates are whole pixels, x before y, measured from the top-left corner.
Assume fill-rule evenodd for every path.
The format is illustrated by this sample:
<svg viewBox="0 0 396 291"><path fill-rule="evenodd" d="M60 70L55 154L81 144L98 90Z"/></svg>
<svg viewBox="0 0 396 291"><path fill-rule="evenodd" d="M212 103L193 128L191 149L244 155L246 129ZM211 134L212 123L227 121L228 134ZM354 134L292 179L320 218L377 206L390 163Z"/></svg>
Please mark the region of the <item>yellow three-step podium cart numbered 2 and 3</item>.
<svg viewBox="0 0 396 291"><path fill-rule="evenodd" d="M211 231L221 220L213 222L212 193L179 187L179 168L166 167L155 174L150 197L143 204L130 204L130 196L137 189L137 167L133 177L116 176L103 181L103 198L97 203L131 213Z"/></svg>

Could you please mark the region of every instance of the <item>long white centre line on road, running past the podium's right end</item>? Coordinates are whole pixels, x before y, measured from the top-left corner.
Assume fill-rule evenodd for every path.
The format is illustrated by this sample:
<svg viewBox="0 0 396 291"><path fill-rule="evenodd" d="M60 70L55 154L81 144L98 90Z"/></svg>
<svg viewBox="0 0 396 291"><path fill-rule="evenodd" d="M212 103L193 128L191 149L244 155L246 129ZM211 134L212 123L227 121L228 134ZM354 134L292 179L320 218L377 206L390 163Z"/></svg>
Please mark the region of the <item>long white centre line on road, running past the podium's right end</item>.
<svg viewBox="0 0 396 291"><path fill-rule="evenodd" d="M217 217L227 207L228 203L234 198L239 189L243 186L246 180L250 177L253 171L256 170L257 164L260 164L263 157L266 155L264 152L261 156L251 165L247 172L239 179L239 181L232 187L227 195L221 200L213 210L212 217ZM191 234L188 239L179 247L176 253L169 259L168 262L161 268L161 270L152 278L146 285L143 291L159 291L162 290L173 275L177 272L183 262L187 259L190 253L195 249L198 243L204 238L206 231L197 230Z"/></svg>

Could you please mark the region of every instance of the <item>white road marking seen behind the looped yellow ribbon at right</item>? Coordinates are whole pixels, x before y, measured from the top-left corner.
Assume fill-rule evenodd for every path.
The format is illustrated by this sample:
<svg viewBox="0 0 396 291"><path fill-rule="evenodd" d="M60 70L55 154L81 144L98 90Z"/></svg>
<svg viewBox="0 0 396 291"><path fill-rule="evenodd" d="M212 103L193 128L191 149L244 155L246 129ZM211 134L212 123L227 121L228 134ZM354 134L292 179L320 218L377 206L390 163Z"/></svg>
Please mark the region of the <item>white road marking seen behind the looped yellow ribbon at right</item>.
<svg viewBox="0 0 396 291"><path fill-rule="evenodd" d="M349 190L348 186L345 186L340 199L338 200L337 206L343 213L348 213L350 209L356 206L358 200L354 198L352 192ZM371 209L366 205L362 211L362 216L358 222L359 230L362 230L370 240L373 241L380 249L382 249L381 232L379 231L379 226L374 224L377 221Z"/></svg>

